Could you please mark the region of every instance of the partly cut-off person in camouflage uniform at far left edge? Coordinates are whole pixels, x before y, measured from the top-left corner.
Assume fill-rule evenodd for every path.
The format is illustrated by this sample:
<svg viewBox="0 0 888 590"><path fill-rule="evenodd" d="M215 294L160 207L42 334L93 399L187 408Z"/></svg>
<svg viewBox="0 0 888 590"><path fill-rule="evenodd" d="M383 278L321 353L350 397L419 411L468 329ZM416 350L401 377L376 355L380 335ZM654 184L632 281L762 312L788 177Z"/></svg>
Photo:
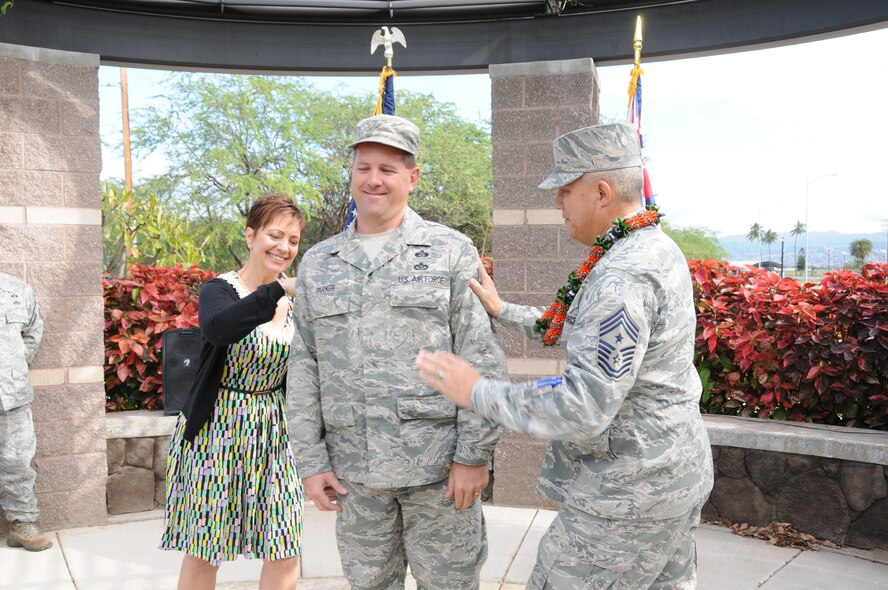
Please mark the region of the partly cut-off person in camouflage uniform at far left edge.
<svg viewBox="0 0 888 590"><path fill-rule="evenodd" d="M37 449L31 402L34 390L28 365L43 336L43 319L33 289L0 273L0 506L12 522L6 544L43 551L52 542L37 528Z"/></svg>

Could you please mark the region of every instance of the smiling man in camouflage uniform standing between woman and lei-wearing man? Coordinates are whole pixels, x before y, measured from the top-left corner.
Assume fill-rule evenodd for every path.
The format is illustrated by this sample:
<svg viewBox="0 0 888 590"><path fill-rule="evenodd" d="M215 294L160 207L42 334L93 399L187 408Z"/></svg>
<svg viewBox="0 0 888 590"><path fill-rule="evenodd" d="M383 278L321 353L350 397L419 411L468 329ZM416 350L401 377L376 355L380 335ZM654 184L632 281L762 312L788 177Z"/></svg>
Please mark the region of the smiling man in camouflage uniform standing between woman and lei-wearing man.
<svg viewBox="0 0 888 590"><path fill-rule="evenodd" d="M487 376L505 355L469 289L471 242L407 206L419 130L400 117L358 123L357 218L306 253L296 294L287 419L305 490L339 511L355 590L479 587L487 540L480 502L499 430L419 381L421 349L452 350Z"/></svg>

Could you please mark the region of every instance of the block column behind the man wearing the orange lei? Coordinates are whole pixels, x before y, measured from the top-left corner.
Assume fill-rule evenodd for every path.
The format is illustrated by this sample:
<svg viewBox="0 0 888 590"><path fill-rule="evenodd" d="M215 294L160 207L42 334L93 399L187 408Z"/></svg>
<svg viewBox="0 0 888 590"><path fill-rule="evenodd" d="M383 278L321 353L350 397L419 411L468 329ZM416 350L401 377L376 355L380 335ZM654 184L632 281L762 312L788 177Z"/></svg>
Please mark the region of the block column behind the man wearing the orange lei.
<svg viewBox="0 0 888 590"><path fill-rule="evenodd" d="M494 277L503 298L548 306L588 248L571 241L555 191L537 185L551 171L552 140L598 123L591 59L491 65ZM560 374L561 348L499 327L513 380ZM551 506L534 492L546 444L507 433L497 446L493 500Z"/></svg>

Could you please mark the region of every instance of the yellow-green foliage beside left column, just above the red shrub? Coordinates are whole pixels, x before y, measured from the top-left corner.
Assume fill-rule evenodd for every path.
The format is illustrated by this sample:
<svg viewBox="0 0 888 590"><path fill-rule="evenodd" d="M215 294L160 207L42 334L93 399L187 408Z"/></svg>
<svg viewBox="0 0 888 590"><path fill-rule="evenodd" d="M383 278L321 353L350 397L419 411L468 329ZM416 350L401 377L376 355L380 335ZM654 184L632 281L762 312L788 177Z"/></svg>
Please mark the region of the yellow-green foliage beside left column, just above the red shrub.
<svg viewBox="0 0 888 590"><path fill-rule="evenodd" d="M104 271L125 277L140 262L152 266L201 263L187 219L171 213L157 197L145 191L130 193L112 183L102 184Z"/></svg>

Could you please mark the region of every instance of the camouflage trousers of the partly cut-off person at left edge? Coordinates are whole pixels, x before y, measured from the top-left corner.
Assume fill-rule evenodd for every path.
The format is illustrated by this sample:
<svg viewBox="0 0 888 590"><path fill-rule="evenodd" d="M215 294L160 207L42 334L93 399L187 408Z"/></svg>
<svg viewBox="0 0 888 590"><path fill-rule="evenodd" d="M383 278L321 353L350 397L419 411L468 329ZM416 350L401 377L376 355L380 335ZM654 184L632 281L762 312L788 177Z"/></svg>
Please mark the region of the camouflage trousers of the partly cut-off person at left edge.
<svg viewBox="0 0 888 590"><path fill-rule="evenodd" d="M0 412L0 506L8 520L37 520L37 473L31 468L36 450L31 405Z"/></svg>

